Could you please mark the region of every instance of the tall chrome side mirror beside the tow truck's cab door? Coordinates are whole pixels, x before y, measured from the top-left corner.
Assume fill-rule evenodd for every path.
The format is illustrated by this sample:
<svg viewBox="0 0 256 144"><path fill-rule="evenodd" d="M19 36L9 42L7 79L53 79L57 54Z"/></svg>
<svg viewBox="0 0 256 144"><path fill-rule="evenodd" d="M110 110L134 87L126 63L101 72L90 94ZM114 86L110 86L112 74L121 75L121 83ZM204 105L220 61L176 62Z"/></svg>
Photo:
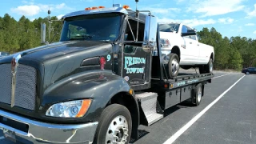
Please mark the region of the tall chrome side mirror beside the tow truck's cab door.
<svg viewBox="0 0 256 144"><path fill-rule="evenodd" d="M145 52L150 52L154 49L157 38L157 29L157 18L152 15L147 15L144 29L144 42L142 44L142 49Z"/></svg>

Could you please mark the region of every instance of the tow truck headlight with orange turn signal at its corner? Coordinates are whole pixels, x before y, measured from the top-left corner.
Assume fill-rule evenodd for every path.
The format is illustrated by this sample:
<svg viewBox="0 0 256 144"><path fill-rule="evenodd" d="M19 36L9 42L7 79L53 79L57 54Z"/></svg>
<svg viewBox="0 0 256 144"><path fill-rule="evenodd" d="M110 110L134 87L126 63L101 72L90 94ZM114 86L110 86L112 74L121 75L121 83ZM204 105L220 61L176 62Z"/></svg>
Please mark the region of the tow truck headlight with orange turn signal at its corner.
<svg viewBox="0 0 256 144"><path fill-rule="evenodd" d="M46 111L46 116L58 118L81 118L90 107L91 100L56 103Z"/></svg>

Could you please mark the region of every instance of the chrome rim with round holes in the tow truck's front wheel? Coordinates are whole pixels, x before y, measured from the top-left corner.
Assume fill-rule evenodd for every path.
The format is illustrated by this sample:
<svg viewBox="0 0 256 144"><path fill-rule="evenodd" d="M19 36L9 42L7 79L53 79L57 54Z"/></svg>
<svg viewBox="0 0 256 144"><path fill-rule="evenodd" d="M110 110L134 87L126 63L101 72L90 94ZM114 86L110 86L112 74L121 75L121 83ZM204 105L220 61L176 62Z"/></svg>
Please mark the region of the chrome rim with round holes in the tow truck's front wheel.
<svg viewBox="0 0 256 144"><path fill-rule="evenodd" d="M114 118L106 131L106 144L125 144L128 138L128 122L122 115Z"/></svg>

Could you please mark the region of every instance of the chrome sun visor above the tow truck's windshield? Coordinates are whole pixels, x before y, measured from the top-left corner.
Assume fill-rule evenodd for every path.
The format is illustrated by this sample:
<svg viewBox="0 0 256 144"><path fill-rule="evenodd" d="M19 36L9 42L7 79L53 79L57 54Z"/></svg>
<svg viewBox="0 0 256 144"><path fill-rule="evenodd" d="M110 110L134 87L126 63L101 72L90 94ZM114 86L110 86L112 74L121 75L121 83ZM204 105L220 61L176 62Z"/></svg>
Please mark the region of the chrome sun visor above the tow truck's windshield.
<svg viewBox="0 0 256 144"><path fill-rule="evenodd" d="M72 12L70 14L64 15L62 18L75 17L75 16L79 16L79 15L86 15L86 14L102 14L102 13L128 14L127 10L122 8L122 7L110 7L110 8L96 9L96 10L75 11L75 12Z"/></svg>

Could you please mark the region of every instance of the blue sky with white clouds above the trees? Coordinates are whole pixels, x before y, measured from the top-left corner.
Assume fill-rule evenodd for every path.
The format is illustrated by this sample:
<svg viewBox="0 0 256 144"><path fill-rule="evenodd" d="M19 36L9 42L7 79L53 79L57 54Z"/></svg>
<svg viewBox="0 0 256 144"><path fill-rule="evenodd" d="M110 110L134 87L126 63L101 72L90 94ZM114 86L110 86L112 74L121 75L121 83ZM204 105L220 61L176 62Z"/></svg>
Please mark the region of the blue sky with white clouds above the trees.
<svg viewBox="0 0 256 144"><path fill-rule="evenodd" d="M10 14L17 21L68 14L90 6L128 5L136 10L134 0L8 0L1 2L0 17ZM214 27L222 37L241 36L256 39L256 0L139 0L138 10L150 10L158 22L183 22L195 29Z"/></svg>

